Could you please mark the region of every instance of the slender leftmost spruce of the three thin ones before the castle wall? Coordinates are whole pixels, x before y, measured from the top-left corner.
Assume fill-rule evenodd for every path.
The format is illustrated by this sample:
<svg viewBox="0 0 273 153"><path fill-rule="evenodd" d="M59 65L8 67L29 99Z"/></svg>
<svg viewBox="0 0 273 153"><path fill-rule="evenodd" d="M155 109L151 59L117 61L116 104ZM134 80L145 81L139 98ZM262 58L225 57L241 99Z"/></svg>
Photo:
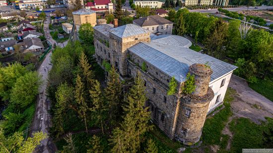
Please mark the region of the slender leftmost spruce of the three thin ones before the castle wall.
<svg viewBox="0 0 273 153"><path fill-rule="evenodd" d="M87 106L86 99L84 99L84 85L81 82L81 77L79 75L77 75L77 80L76 80L75 99L79 105L77 112L78 112L79 116L84 119L86 133L88 133L87 123L86 123L86 118L87 118L86 113L89 108Z"/></svg>

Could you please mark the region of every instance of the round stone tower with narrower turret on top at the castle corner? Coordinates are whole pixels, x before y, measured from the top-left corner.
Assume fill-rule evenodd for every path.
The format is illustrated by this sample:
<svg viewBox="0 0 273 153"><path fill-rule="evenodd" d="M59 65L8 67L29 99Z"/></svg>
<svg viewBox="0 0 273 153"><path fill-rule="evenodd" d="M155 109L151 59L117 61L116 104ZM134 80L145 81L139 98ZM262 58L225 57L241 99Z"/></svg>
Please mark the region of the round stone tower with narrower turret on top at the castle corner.
<svg viewBox="0 0 273 153"><path fill-rule="evenodd" d="M182 126L180 139L186 145L199 142L205 123L209 102L214 93L208 87L212 70L204 64L190 66L190 74L195 76L195 91L190 95L183 95L182 101Z"/></svg>

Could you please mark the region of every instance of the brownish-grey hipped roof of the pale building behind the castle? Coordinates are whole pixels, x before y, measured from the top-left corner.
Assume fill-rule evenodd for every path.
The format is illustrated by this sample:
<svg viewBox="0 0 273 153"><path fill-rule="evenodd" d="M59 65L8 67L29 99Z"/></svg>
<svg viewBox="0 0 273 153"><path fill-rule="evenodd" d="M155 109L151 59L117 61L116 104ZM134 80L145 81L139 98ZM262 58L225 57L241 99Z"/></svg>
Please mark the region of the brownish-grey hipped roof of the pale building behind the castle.
<svg viewBox="0 0 273 153"><path fill-rule="evenodd" d="M173 24L173 22L161 17L159 15L150 15L147 17L142 17L133 21L141 27L145 26L154 26L154 25L164 25L164 24Z"/></svg>

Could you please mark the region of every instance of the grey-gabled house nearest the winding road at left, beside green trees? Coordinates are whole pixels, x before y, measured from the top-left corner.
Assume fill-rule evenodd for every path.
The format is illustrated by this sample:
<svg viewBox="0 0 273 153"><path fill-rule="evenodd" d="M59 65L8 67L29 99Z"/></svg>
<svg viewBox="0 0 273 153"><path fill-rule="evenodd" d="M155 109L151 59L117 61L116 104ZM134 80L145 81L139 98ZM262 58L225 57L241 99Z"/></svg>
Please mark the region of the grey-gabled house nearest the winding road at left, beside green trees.
<svg viewBox="0 0 273 153"><path fill-rule="evenodd" d="M41 41L41 39L35 37L35 38L26 38L23 41L23 50L24 52L30 52L30 51L43 51L44 45Z"/></svg>

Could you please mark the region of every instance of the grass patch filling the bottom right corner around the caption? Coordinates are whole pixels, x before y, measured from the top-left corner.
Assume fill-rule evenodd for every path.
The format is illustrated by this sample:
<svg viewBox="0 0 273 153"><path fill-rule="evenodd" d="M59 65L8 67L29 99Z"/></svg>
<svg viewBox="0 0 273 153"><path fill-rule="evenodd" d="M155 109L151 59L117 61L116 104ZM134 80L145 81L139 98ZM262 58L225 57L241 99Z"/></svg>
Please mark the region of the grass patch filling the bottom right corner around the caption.
<svg viewBox="0 0 273 153"><path fill-rule="evenodd" d="M229 124L233 132L231 152L239 153L243 148L272 148L273 119L267 118L267 123L257 125L248 118L233 119Z"/></svg>

